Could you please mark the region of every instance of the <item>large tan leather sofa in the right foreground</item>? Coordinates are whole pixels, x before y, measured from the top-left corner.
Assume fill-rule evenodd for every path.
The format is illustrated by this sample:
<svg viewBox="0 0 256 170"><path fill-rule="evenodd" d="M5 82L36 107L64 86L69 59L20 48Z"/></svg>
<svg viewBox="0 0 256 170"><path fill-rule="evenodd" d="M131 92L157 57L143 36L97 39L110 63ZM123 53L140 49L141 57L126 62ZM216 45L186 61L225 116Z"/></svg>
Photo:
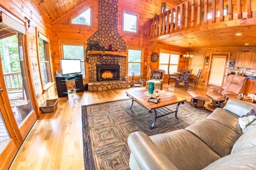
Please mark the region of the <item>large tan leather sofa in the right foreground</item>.
<svg viewBox="0 0 256 170"><path fill-rule="evenodd" d="M185 129L129 135L131 169L255 169L256 121L244 130L238 118L256 107L229 99L205 120ZM255 126L254 126L255 125Z"/></svg>

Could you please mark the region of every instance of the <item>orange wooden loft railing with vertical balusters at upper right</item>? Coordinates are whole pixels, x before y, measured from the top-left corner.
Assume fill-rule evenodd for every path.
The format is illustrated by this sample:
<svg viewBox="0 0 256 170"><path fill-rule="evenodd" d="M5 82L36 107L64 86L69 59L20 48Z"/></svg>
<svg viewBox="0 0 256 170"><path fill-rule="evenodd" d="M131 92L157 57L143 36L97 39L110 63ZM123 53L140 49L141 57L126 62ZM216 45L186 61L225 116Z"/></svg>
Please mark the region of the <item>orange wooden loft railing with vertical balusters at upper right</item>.
<svg viewBox="0 0 256 170"><path fill-rule="evenodd" d="M252 17L250 0L190 0L152 18L149 36L154 38L189 27Z"/></svg>

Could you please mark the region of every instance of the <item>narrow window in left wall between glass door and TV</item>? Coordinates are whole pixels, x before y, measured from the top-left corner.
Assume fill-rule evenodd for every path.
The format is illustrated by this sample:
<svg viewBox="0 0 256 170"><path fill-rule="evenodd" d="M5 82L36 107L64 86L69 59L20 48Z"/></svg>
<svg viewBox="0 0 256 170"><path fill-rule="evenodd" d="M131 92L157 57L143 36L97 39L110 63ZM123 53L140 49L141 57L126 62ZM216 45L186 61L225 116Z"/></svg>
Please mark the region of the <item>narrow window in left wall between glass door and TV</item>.
<svg viewBox="0 0 256 170"><path fill-rule="evenodd" d="M49 64L49 39L39 32L38 37L39 67L43 88L52 82ZM45 90L45 89L44 89Z"/></svg>

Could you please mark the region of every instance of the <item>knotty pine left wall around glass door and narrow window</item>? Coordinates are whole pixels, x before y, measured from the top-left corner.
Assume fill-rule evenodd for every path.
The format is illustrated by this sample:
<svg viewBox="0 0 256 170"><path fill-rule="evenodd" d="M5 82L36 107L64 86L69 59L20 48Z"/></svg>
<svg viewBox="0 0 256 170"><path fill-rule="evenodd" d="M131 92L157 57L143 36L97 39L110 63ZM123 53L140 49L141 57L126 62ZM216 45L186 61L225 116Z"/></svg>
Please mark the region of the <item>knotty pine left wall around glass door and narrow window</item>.
<svg viewBox="0 0 256 170"><path fill-rule="evenodd" d="M53 97L56 94L56 89L53 84L47 91L43 92L41 82L40 82L40 73L38 68L38 56L36 50L36 28L43 35L47 36L50 41L52 37L51 32L51 22L47 20L46 16L38 11L38 7L35 5L33 1L26 0L6 0L1 1L0 10L5 12L7 15L14 15L21 22L27 23L27 20L24 18L26 16L27 19L30 20L30 28L27 27L27 41L25 42L24 51L27 53L28 62L30 63L28 70L30 75L27 75L27 78L32 79L32 85L34 86L34 90L32 90L33 94L31 94L32 100L37 101L36 108L39 111L40 105L47 99ZM51 46L51 44L50 44ZM25 57L26 57L25 56ZM52 58L51 58L52 59ZM36 66L32 66L32 63L36 63ZM55 79L52 79L55 81Z"/></svg>

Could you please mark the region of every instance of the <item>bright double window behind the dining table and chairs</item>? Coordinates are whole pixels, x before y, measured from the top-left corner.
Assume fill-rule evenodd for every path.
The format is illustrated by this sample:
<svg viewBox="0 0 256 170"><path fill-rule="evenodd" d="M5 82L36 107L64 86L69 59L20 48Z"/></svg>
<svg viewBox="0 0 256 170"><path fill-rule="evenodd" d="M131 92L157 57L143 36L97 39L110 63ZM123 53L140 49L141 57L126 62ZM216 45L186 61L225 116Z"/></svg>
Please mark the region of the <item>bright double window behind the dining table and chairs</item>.
<svg viewBox="0 0 256 170"><path fill-rule="evenodd" d="M179 53L174 52L160 52L159 57L159 69L165 70L168 73L173 74L177 71L179 64Z"/></svg>

